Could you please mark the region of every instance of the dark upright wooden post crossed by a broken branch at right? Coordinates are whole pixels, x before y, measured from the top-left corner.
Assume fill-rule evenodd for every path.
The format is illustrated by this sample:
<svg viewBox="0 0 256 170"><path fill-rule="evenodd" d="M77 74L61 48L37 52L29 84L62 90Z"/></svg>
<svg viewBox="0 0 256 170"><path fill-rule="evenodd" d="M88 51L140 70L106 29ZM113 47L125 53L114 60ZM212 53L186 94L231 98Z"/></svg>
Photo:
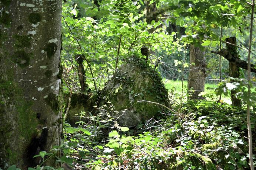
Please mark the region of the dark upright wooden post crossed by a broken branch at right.
<svg viewBox="0 0 256 170"><path fill-rule="evenodd" d="M230 37L230 38L226 38L225 39L226 42L229 42L231 44L235 44L236 45L236 37ZM227 51L229 51L231 53L232 56L235 56L238 58L238 52L237 52L237 47L231 44L227 44L226 43L226 48ZM239 67L235 65L235 63L229 62L229 76L233 77L233 78L239 78ZM231 80L232 81L232 80ZM231 90L231 101L232 101L232 105L233 106L241 106L241 100L236 98L236 91L235 90Z"/></svg>

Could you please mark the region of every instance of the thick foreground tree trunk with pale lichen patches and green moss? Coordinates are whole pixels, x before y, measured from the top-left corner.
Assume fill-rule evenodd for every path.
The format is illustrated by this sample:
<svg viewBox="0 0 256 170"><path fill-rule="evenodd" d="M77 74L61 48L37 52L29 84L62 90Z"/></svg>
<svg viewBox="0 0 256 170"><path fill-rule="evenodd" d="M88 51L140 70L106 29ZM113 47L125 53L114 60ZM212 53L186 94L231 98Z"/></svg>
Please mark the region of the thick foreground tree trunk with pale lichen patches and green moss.
<svg viewBox="0 0 256 170"><path fill-rule="evenodd" d="M61 0L0 1L0 168L61 140Z"/></svg>

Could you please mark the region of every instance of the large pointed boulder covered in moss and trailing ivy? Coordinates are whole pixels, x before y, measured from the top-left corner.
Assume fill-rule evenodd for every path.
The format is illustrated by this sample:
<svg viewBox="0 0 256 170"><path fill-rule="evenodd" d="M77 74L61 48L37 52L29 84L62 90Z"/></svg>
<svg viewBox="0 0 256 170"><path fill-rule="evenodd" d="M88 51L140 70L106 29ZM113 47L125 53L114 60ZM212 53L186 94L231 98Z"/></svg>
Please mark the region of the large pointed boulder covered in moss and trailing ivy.
<svg viewBox="0 0 256 170"><path fill-rule="evenodd" d="M159 105L137 101L146 100L169 107L167 90L157 72L144 60L132 56L117 69L101 94L100 105L111 102L114 118L122 126L132 127L163 111Z"/></svg>

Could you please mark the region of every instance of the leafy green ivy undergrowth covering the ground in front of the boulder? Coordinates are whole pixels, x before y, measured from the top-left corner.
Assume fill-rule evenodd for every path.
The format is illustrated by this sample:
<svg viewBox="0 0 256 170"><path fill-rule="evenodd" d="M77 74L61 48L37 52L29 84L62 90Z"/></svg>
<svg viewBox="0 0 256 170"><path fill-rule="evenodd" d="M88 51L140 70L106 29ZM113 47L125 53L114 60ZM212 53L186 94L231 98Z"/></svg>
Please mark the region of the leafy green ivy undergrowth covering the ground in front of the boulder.
<svg viewBox="0 0 256 170"><path fill-rule="evenodd" d="M64 143L50 153L36 155L43 158L36 169L54 170L43 164L60 151L63 156L56 156L59 165L62 164L59 170L249 169L246 108L188 101L180 110L179 119L177 115L165 114L133 129L118 125L111 117L111 104L98 109L98 115L81 113L77 127L65 122ZM85 118L86 122L82 121ZM255 114L252 122L256 122ZM255 124L252 130L255 134ZM17 170L16 166L10 168Z"/></svg>

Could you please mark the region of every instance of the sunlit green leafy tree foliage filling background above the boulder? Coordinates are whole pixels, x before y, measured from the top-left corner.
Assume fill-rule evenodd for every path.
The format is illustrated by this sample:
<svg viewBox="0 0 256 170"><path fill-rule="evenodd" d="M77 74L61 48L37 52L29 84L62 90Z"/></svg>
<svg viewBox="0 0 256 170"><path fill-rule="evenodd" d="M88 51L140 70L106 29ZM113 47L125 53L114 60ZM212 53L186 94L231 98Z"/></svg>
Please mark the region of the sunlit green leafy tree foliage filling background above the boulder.
<svg viewBox="0 0 256 170"><path fill-rule="evenodd" d="M156 6L155 11L149 12L148 6ZM235 36L238 46L248 48L249 20L246 17L249 10L245 1L69 0L63 6L64 65L70 68L75 63L74 56L82 54L90 88L95 90L93 74L97 89L102 89L114 71L122 35L119 65L126 56L140 55L139 49L147 45L150 63L153 66L160 62L159 71L164 78L187 80L188 45L194 43L206 50L206 79L219 79L219 56L210 51L219 49L220 27L223 27L222 39ZM155 15L152 18L157 21L147 23L149 15ZM252 45L255 48L255 43ZM225 43L222 42L223 46ZM241 48L238 51L241 59L246 60L247 52ZM182 78L181 62L184 59L188 65ZM252 58L253 62L255 58ZM74 70L67 71L72 73ZM241 74L246 76L247 73L241 69ZM222 77L228 76L228 62L222 58ZM217 84L213 80L206 82Z"/></svg>

